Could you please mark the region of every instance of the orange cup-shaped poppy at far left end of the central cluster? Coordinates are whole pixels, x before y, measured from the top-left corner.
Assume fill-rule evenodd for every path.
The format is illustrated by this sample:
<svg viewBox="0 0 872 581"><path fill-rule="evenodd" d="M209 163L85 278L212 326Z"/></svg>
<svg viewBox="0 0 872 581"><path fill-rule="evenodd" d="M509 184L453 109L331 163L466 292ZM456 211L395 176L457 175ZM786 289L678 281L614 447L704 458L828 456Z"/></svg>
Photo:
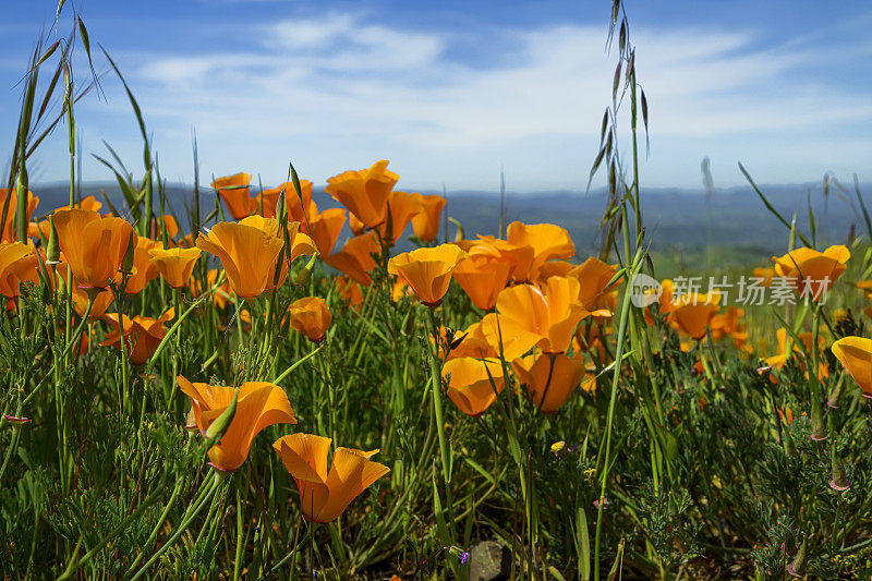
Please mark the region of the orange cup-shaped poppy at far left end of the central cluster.
<svg viewBox="0 0 872 581"><path fill-rule="evenodd" d="M443 301L451 283L451 273L468 254L456 244L404 252L388 262L388 273L405 280L427 306Z"/></svg>

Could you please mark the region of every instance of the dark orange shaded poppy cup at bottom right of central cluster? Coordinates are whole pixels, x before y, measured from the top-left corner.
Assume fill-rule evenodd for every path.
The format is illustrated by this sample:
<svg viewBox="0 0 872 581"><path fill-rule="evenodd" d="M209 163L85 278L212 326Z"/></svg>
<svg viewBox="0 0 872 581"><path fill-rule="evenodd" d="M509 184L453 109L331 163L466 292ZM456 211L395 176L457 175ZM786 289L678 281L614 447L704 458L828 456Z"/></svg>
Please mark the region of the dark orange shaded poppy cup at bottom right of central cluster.
<svg viewBox="0 0 872 581"><path fill-rule="evenodd" d="M542 413L557 412L584 378L584 359L581 355L540 353L516 359L511 366Z"/></svg>

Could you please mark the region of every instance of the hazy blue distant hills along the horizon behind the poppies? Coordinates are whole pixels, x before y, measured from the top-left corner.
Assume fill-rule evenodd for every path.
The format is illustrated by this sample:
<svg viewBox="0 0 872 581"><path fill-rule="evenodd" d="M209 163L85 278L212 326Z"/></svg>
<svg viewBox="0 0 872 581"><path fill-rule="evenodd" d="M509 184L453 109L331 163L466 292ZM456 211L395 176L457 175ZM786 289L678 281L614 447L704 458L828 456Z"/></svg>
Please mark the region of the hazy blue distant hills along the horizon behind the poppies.
<svg viewBox="0 0 872 581"><path fill-rule="evenodd" d="M32 190L40 197L37 215L66 204L68 184L33 185ZM820 184L762 185L761 190L786 220L790 221L796 215L797 227L809 238L810 205L821 243L843 243L851 228L858 233L867 232L852 189L845 193L831 187L826 196ZM872 192L872 184L862 184L861 191ZM117 184L88 182L82 187L83 195L95 194L100 199L104 192L121 209L122 197ZM339 205L323 189L316 189L313 195L319 208ZM447 197L448 215L463 225L468 238L497 233L499 193L462 190L448 192ZM870 199L872 201L872 196ZM641 202L646 233L655 250L676 249L693 253L704 247L710 235L708 216L714 245L743 246L767 255L780 252L787 243L787 229L766 210L750 186L718 190L707 199L701 190L643 189ZM167 204L177 215L186 216L187 208L193 205L193 186L168 184ZM570 231L580 256L593 254L600 247L598 227L607 205L603 190L589 193L567 190L530 194L509 192L506 194L505 205L506 223L513 220L557 223ZM214 207L214 191L208 186L201 186L203 216ZM184 220L182 222L185 229ZM453 226L450 227L449 235L455 235Z"/></svg>

